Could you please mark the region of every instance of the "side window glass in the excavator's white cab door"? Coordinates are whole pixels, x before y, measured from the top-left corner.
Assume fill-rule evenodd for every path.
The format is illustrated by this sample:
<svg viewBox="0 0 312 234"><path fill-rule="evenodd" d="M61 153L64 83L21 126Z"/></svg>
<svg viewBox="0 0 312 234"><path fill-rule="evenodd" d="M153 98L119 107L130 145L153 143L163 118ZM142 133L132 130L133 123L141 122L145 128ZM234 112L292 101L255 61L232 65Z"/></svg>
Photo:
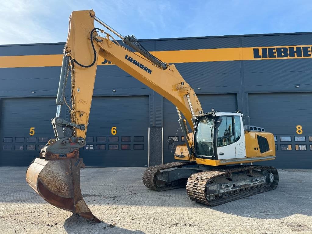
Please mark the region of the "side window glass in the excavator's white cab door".
<svg viewBox="0 0 312 234"><path fill-rule="evenodd" d="M217 147L225 146L234 143L233 117L221 117L222 122L217 133Z"/></svg>

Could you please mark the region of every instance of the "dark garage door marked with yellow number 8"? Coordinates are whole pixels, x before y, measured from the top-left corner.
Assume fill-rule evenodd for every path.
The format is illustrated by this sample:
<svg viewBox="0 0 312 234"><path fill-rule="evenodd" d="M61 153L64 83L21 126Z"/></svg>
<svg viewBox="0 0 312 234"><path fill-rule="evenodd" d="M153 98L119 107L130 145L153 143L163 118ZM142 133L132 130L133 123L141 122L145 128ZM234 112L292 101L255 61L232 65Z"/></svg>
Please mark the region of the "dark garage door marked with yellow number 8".
<svg viewBox="0 0 312 234"><path fill-rule="evenodd" d="M251 125L276 137L276 159L257 164L276 168L312 167L312 93L248 94Z"/></svg>

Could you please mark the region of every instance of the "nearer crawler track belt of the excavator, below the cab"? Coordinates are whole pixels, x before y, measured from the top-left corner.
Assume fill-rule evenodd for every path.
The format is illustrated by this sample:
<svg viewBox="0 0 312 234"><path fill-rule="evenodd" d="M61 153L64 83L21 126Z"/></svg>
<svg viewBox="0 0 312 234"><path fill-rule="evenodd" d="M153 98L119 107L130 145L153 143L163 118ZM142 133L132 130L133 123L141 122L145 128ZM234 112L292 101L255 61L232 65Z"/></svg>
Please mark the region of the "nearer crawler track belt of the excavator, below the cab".
<svg viewBox="0 0 312 234"><path fill-rule="evenodd" d="M268 170L273 174L274 180L272 183L268 184L255 185L247 188L232 190L230 193L217 194L215 199L210 201L206 199L206 184L210 183L213 178L246 170ZM278 180L278 172L273 167L242 165L232 168L216 168L209 171L194 173L190 176L190 178L188 178L186 190L188 197L191 200L206 204L208 206L217 206L223 203L273 190L277 187Z"/></svg>

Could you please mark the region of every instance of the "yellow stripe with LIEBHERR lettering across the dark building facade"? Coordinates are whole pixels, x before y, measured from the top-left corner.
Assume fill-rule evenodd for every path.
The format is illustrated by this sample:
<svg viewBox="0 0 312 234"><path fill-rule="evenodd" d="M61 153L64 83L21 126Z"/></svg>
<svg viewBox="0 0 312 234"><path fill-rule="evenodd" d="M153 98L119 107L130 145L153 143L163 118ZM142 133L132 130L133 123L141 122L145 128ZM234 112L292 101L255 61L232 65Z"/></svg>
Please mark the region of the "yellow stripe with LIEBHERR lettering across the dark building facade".
<svg viewBox="0 0 312 234"><path fill-rule="evenodd" d="M152 51L151 53L167 63L312 58L311 45ZM294 55L292 56L291 53ZM280 57L277 54L280 54ZM62 54L0 56L0 68L61 66L62 56ZM104 61L105 59L100 56L98 65L112 65Z"/></svg>

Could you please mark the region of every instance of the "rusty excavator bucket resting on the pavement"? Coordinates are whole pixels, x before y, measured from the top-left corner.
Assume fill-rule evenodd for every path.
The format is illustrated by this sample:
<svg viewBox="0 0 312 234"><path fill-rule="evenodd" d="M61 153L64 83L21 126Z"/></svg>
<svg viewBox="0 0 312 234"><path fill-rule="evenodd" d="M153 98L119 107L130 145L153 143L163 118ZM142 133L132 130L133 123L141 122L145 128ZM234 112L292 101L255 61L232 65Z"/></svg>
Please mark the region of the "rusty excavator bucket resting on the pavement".
<svg viewBox="0 0 312 234"><path fill-rule="evenodd" d="M27 168L26 181L51 205L100 222L90 211L80 190L82 158L45 160L36 158Z"/></svg>

